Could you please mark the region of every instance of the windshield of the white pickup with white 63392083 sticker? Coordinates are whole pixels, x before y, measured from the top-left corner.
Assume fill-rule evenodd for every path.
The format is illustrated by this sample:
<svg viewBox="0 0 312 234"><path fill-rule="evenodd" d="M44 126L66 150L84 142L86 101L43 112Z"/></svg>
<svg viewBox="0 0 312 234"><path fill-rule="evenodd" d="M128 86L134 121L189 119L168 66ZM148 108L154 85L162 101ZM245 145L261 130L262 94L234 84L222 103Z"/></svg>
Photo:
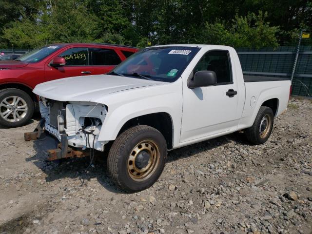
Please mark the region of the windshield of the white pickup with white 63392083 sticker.
<svg viewBox="0 0 312 234"><path fill-rule="evenodd" d="M186 46L146 48L120 63L109 74L173 82L199 49Z"/></svg>

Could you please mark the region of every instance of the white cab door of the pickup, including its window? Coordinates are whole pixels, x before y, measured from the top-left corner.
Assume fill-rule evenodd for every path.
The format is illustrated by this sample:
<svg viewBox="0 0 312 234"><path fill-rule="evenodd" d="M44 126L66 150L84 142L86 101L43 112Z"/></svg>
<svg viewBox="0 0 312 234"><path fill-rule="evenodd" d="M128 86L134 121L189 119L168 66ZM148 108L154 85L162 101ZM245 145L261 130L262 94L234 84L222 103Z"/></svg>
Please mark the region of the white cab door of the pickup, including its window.
<svg viewBox="0 0 312 234"><path fill-rule="evenodd" d="M203 70L214 71L217 83L190 89L187 82L183 82L180 143L230 131L239 121L236 114L238 95L227 95L231 89L239 92L229 52L207 52L195 66L193 74Z"/></svg>

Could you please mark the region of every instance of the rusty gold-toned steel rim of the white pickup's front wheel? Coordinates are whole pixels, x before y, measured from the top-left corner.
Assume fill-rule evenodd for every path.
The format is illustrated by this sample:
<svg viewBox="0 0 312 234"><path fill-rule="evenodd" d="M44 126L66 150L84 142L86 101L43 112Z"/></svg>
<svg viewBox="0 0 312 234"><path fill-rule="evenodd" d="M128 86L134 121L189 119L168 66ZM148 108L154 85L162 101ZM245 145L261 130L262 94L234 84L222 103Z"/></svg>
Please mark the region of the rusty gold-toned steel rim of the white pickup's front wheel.
<svg viewBox="0 0 312 234"><path fill-rule="evenodd" d="M144 152L144 153L143 153ZM139 168L137 167L138 157L142 154L149 154L147 165ZM153 140L143 140L139 142L131 151L128 158L128 174L136 181L143 181L148 179L155 172L159 163L159 149Z"/></svg>

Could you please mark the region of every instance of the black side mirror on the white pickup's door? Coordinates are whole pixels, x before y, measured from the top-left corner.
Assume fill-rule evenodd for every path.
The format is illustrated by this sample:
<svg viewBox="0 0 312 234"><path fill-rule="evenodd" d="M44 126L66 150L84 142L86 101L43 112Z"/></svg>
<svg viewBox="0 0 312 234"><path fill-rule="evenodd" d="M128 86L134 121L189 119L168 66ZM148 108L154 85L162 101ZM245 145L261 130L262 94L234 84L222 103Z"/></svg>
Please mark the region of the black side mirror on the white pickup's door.
<svg viewBox="0 0 312 234"><path fill-rule="evenodd" d="M216 74L214 71L198 71L194 77L189 80L187 86L190 89L197 87L211 86L216 84Z"/></svg>

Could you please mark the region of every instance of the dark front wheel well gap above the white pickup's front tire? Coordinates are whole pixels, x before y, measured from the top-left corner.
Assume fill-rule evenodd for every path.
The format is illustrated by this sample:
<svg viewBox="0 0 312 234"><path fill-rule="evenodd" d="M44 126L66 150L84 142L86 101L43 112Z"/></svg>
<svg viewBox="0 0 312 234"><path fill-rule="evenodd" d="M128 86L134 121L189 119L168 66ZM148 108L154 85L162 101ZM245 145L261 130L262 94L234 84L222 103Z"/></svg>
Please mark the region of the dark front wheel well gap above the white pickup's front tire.
<svg viewBox="0 0 312 234"><path fill-rule="evenodd" d="M173 125L168 113L160 112L129 119L120 129L119 134L136 125L148 125L156 128L166 139L167 148L173 147Z"/></svg>

